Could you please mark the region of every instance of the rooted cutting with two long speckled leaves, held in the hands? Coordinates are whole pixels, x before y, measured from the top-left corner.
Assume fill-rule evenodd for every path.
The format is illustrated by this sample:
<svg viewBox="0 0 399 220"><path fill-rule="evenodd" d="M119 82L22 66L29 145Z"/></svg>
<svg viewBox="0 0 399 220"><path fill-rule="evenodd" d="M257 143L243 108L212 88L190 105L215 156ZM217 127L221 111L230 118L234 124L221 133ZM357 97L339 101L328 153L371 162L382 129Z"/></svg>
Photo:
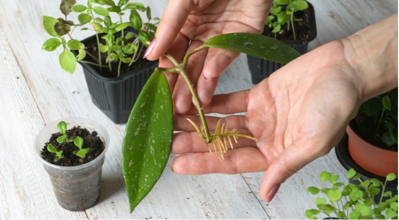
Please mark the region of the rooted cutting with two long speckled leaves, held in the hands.
<svg viewBox="0 0 399 220"><path fill-rule="evenodd" d="M264 35L249 33L229 33L212 37L199 47L187 52L182 61L170 54L165 56L174 64L172 68L156 68L144 86L128 119L122 144L122 169L130 203L130 212L151 191L161 176L169 158L173 127L173 106L169 84L165 74L181 74L192 93L200 117L200 125L195 127L211 153L223 160L227 147L239 137L254 139L240 134L236 129L219 120L209 129L199 98L190 82L186 67L189 58L196 52L208 48L223 48L251 54L262 59L287 63L300 54L286 44ZM268 50L264 50L269 48Z"/></svg>

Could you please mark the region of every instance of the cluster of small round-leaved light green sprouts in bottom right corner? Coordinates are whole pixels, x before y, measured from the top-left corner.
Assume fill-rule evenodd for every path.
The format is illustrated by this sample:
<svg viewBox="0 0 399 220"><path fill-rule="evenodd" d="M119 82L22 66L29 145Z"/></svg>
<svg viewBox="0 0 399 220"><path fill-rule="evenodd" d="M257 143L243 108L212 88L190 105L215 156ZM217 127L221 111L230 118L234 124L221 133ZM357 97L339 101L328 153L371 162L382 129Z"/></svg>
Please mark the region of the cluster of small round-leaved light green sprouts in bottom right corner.
<svg viewBox="0 0 399 220"><path fill-rule="evenodd" d="M388 174L384 183L378 179L362 181L361 175L353 168L347 173L348 184L338 182L339 175L326 171L321 172L319 177L320 188L311 186L307 190L312 195L320 193L324 197L316 198L317 209L305 211L309 219L317 219L320 213L338 219L398 219L398 195L386 191L387 182L396 179L394 173ZM350 183L351 180L359 184ZM380 200L375 201L380 192ZM383 202L383 198L387 200Z"/></svg>

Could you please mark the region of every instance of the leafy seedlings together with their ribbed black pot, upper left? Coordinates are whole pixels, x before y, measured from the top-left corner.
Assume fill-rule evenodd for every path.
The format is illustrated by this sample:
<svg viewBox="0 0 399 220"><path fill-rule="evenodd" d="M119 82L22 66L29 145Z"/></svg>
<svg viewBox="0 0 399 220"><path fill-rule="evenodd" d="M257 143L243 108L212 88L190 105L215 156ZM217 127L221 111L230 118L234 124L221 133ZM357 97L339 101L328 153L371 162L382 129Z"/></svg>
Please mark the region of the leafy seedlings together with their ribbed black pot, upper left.
<svg viewBox="0 0 399 220"><path fill-rule="evenodd" d="M126 122L141 89L158 66L158 61L148 61L143 54L154 39L159 19L151 17L149 7L128 0L88 0L85 5L61 0L60 11L61 18L43 16L44 29L52 38L42 49L54 51L62 46L61 68L72 74L80 63L94 105L115 123ZM148 22L143 22L141 12ZM77 21L69 20L71 14L77 15ZM124 14L129 14L126 21ZM94 35L79 41L72 37L78 30L90 30Z"/></svg>

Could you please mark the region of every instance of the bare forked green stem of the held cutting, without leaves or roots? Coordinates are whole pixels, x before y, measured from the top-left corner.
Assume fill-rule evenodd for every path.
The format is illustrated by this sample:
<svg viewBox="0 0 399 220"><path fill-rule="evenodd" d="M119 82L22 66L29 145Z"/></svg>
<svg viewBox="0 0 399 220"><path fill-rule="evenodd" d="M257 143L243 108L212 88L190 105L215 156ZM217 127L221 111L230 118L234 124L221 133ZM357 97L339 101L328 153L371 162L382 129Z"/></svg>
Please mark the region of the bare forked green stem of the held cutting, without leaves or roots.
<svg viewBox="0 0 399 220"><path fill-rule="evenodd" d="M193 55L194 53L200 51L203 48L205 48L205 47L203 45L201 45L200 47L189 51L186 54L186 56L184 57L183 64L178 63L170 54L165 54L165 56L176 66L175 67L176 70L180 74L182 74L183 78L185 79L185 81L186 81L186 83L187 83L187 85L188 85L188 87L190 89L190 92L191 92L191 94L193 96L193 99L194 99L194 102L196 104L196 108L198 110L198 113L200 114L200 119L201 119L201 123L202 123L202 127L203 127L203 132L205 133L204 141L205 141L205 143L210 143L210 142L212 142L212 139L211 139L211 136L210 136L208 125L206 123L205 114L203 113L203 110L202 110L200 99L198 98L196 90L194 89L194 86L191 83L191 81L189 79L189 76L186 74L186 70L185 70L189 57L191 55Z"/></svg>

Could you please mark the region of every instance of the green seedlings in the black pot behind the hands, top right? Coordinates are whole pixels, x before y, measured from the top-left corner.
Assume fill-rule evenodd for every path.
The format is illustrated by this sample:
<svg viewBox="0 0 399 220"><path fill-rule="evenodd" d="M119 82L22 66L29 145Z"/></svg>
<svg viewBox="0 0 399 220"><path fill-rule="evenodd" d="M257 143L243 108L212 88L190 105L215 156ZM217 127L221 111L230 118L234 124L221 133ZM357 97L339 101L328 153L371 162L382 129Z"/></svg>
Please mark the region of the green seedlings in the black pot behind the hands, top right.
<svg viewBox="0 0 399 220"><path fill-rule="evenodd" d="M307 8L306 0L273 0L265 25L272 29L274 38L277 38L276 35L281 30L281 26L287 24L287 31L291 28L293 38L296 40L294 21L300 21L302 18L295 18L294 13Z"/></svg>

